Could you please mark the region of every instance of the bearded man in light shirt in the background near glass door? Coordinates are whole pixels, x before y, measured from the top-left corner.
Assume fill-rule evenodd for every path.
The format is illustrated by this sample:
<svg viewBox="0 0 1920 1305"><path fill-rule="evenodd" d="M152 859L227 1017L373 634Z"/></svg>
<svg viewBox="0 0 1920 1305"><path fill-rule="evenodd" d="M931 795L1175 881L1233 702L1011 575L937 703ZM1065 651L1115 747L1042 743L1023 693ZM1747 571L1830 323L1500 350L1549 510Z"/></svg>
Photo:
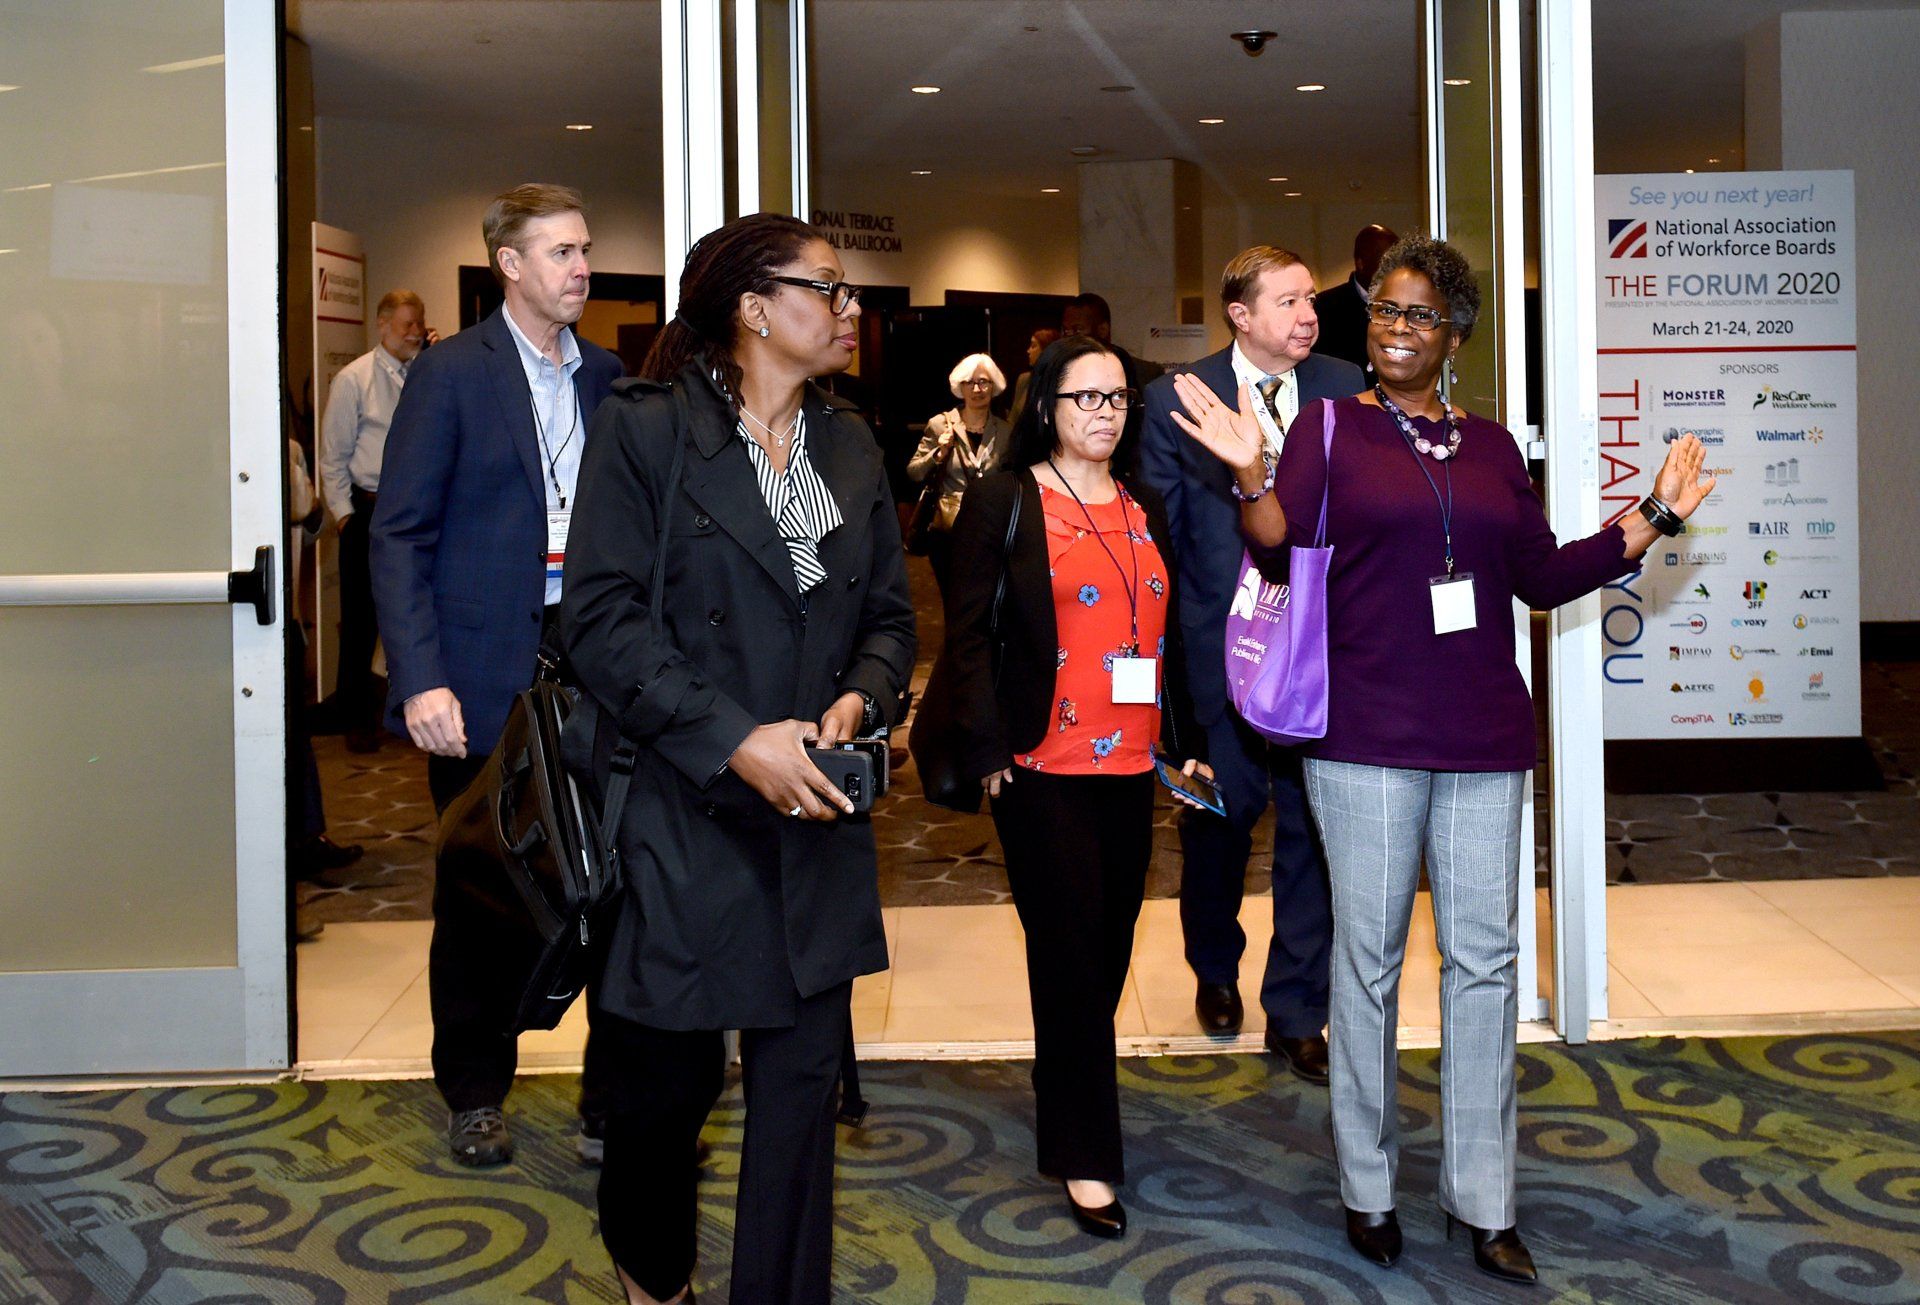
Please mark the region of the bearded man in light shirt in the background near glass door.
<svg viewBox="0 0 1920 1305"><path fill-rule="evenodd" d="M367 526L380 495L386 426L407 384L413 359L438 334L426 326L426 305L411 290L390 290L374 313L380 344L340 368L321 418L321 493L340 524L340 679L336 702L348 748L380 747L374 727L380 697L372 679L372 581L367 570Z"/></svg>

